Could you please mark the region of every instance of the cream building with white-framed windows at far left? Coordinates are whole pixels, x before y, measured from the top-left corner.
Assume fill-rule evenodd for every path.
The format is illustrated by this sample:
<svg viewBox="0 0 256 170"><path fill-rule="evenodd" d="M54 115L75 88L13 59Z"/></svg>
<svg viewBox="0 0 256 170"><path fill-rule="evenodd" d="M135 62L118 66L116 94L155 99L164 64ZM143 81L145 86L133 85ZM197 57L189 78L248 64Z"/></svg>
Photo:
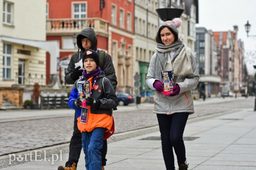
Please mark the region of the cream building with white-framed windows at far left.
<svg viewBox="0 0 256 170"><path fill-rule="evenodd" d="M45 0L0 0L0 6L0 107L3 98L18 106L23 90L12 86L45 85L46 51L58 56L58 43L45 41Z"/></svg>

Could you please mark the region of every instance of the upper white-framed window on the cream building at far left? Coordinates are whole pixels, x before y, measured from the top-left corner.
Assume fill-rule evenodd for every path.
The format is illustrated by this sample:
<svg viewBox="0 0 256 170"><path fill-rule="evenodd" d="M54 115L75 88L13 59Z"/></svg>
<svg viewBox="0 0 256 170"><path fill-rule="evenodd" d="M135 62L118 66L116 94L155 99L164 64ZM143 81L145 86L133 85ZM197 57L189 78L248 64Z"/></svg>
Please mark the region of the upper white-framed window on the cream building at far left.
<svg viewBox="0 0 256 170"><path fill-rule="evenodd" d="M13 15L12 15L13 4L4 1L3 3L3 23L7 25L12 25Z"/></svg>

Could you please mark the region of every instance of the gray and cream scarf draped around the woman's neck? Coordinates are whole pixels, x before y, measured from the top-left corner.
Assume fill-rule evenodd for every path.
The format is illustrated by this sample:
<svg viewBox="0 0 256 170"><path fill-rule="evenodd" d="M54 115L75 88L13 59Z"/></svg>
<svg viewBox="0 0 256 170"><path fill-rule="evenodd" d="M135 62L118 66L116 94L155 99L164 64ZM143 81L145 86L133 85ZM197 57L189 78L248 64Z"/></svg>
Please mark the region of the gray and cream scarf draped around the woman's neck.
<svg viewBox="0 0 256 170"><path fill-rule="evenodd" d="M156 46L156 57L155 57L155 73L156 79L161 80L161 71L166 68L170 51L175 50L174 57L172 59L172 69L174 76L180 77L193 75L192 64L191 64L191 49L183 44L180 40L175 41L170 46L157 43Z"/></svg>

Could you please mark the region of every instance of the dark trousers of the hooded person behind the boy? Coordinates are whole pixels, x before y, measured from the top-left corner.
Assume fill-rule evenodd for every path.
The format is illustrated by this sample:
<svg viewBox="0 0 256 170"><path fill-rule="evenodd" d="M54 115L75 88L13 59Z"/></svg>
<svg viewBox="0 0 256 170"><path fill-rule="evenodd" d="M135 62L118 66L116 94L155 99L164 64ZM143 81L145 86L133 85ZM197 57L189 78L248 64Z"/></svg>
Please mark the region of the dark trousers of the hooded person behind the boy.
<svg viewBox="0 0 256 170"><path fill-rule="evenodd" d="M106 165L106 154L107 154L107 140L103 140L103 147L101 149L101 165ZM82 150L82 133L78 130L77 127L77 119L76 119L76 111L75 111L75 119L74 119L74 131L73 136L70 140L69 144L69 155L68 155L68 162L66 162L67 165L72 165L73 163L78 163L78 160L80 158L80 153Z"/></svg>

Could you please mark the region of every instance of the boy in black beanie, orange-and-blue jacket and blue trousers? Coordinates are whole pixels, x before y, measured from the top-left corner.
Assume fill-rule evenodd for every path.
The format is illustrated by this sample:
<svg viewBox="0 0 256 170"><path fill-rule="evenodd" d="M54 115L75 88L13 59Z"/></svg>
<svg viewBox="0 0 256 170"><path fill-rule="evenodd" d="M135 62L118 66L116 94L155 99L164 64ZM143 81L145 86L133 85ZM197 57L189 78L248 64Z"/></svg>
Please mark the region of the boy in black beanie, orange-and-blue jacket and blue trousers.
<svg viewBox="0 0 256 170"><path fill-rule="evenodd" d="M100 170L100 150L103 146L104 133L105 130L110 131L111 129L112 109L117 107L118 100L111 81L98 67L98 53L91 49L87 50L84 52L82 60L85 70L82 73L82 78L76 80L70 92L68 105L71 109L77 110L77 127L82 132L85 167L87 170ZM86 98L86 105L82 103L84 101L80 100L81 97L79 98L78 83L81 81L90 82L90 95Z"/></svg>

